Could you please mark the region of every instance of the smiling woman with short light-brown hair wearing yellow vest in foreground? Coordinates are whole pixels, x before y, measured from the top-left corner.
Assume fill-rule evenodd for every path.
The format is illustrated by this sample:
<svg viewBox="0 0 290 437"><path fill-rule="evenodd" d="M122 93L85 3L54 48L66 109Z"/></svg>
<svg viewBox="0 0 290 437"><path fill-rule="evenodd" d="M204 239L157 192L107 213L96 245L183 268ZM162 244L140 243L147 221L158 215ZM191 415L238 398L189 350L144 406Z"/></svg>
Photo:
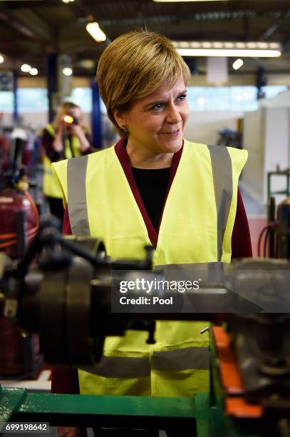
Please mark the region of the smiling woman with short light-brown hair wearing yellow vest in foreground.
<svg viewBox="0 0 290 437"><path fill-rule="evenodd" d="M183 138L189 78L187 65L165 36L134 31L105 49L98 85L122 139L98 154L54 165L66 203L66 233L102 238L113 258L143 259L151 244L155 267L187 268L187 273L201 265L222 269L233 256L252 256L237 189L247 152ZM194 396L208 391L204 326L156 321L154 344L147 343L145 331L107 337L93 374L78 371L80 393ZM60 387L60 378L54 371L54 391L67 389Z"/></svg>

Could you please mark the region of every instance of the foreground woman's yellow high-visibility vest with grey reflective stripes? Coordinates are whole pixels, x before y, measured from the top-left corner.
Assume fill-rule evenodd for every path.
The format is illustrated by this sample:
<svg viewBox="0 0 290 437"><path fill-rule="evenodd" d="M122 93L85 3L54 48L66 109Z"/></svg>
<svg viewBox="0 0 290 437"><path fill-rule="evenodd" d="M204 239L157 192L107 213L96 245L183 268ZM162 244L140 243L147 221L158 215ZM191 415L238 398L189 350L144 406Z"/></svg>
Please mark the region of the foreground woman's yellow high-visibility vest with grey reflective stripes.
<svg viewBox="0 0 290 437"><path fill-rule="evenodd" d="M221 266L231 261L239 174L247 151L184 141L162 215L154 265ZM113 258L143 259L147 228L114 147L53 164L73 234L102 238ZM154 195L154 194L152 194ZM78 371L88 394L193 396L209 389L207 322L157 321L107 337L93 371Z"/></svg>

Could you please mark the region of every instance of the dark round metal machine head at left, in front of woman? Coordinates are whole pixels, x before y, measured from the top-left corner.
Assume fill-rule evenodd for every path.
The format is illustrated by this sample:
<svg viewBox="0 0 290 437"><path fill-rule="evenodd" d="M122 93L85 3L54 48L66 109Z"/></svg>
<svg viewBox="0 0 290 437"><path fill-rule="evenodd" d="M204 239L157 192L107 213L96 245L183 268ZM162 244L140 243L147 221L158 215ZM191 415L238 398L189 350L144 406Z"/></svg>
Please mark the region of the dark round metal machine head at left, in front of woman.
<svg viewBox="0 0 290 437"><path fill-rule="evenodd" d="M40 333L48 363L90 366L99 361L105 336L123 335L127 326L127 315L110 312L112 268L150 275L152 250L144 261L114 261L102 241L63 237L48 221L21 261L2 256L0 263L4 316Z"/></svg>

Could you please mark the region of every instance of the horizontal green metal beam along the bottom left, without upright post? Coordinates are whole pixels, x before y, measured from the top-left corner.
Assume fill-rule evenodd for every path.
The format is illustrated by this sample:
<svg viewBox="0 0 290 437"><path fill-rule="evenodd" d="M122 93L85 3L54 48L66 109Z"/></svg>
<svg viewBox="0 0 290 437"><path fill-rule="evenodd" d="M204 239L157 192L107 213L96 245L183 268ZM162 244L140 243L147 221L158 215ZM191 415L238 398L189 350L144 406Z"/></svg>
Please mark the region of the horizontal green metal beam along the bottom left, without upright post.
<svg viewBox="0 0 290 437"><path fill-rule="evenodd" d="M195 402L192 398L28 393L22 388L3 388L0 423L7 421L120 428L129 424L148 429L186 426L195 436Z"/></svg>

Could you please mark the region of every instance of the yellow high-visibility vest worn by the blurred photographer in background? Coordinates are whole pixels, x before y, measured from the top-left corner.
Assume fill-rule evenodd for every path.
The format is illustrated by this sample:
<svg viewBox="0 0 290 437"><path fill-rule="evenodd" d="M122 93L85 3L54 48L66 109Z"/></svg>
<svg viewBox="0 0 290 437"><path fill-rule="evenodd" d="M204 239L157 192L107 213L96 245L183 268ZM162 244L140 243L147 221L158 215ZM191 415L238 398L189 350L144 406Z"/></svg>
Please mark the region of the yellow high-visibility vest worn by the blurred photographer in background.
<svg viewBox="0 0 290 437"><path fill-rule="evenodd" d="M56 132L54 131L51 124L48 124L45 129L53 138L56 136ZM71 147L73 149L73 154L71 151ZM76 136L72 137L71 146L69 139L66 139L64 144L64 156L66 157L66 159L73 158L73 156L81 156L81 146ZM43 158L43 167L43 193L48 197L56 197L57 199L62 199L63 193L61 191L61 187L58 184L56 176L53 174L53 171L51 169L51 160L48 158L48 156L44 156Z"/></svg>

